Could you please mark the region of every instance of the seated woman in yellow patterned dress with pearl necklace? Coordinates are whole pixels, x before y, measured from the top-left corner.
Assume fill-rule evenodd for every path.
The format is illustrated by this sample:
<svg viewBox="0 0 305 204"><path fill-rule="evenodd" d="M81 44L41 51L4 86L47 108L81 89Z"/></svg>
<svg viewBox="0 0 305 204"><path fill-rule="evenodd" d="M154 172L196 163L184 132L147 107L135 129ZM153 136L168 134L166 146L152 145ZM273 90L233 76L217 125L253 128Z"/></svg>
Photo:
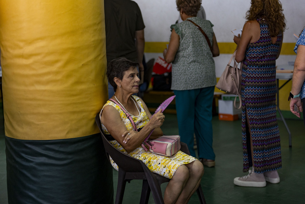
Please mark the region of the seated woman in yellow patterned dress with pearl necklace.
<svg viewBox="0 0 305 204"><path fill-rule="evenodd" d="M203 165L181 151L166 157L142 148L143 140L152 130L149 139L163 135L160 126L165 116L161 111L152 116L142 99L133 95L139 90L137 66L126 58L114 59L107 67L107 77L115 91L112 99L131 115L138 131L133 129L126 114L112 101L107 101L101 111L102 129L114 147L142 160L152 172L171 179L164 192L165 203L186 203L200 184ZM111 163L118 170L117 165L113 161Z"/></svg>

